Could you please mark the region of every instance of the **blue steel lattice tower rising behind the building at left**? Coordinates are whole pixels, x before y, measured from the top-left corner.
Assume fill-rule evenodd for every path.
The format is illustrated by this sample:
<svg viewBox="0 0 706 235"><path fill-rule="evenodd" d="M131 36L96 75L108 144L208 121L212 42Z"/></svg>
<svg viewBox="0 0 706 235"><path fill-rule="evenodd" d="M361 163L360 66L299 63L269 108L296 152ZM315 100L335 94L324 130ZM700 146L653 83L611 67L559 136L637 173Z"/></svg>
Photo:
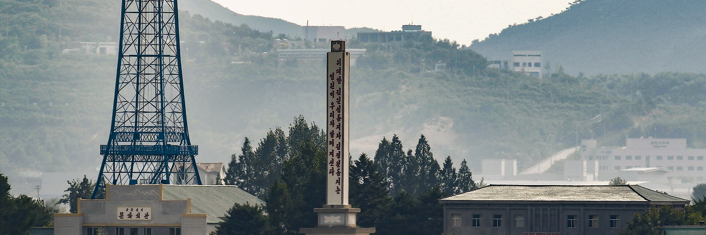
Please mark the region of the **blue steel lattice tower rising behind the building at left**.
<svg viewBox="0 0 706 235"><path fill-rule="evenodd" d="M201 184L186 128L177 0L123 0L113 119L92 198L106 184Z"/></svg>

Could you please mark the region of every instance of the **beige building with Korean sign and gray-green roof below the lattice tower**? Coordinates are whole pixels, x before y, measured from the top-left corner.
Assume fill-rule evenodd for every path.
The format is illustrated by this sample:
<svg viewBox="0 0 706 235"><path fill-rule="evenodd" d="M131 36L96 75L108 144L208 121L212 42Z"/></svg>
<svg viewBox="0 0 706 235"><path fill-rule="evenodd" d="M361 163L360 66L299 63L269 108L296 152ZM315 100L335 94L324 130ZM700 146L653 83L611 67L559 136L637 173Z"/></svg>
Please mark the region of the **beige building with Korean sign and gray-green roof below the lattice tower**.
<svg viewBox="0 0 706 235"><path fill-rule="evenodd" d="M264 202L236 186L107 185L106 199L54 214L55 235L206 235L234 203Z"/></svg>

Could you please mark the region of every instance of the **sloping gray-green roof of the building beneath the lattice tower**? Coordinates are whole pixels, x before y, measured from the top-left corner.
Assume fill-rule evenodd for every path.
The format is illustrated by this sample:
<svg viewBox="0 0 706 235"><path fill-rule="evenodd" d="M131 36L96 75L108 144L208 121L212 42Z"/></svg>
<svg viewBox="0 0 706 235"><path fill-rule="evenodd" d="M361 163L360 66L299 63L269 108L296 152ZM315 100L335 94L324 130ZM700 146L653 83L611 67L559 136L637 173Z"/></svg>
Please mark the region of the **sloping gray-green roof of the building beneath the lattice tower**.
<svg viewBox="0 0 706 235"><path fill-rule="evenodd" d="M206 222L217 223L235 203L265 205L263 200L243 191L237 186L211 185L164 185L162 200L186 200L191 198L191 213L206 214Z"/></svg>

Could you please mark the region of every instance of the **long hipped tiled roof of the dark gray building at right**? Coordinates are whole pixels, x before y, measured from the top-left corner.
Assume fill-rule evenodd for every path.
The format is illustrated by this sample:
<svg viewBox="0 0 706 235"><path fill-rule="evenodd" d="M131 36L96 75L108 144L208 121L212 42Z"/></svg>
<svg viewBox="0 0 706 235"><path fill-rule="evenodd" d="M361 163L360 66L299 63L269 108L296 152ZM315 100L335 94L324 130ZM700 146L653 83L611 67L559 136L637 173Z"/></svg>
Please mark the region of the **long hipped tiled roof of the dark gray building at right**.
<svg viewBox="0 0 706 235"><path fill-rule="evenodd" d="M472 191L442 198L453 200L506 200L506 201L596 201L596 202L686 202L664 193L637 185L622 186L531 186L490 185Z"/></svg>

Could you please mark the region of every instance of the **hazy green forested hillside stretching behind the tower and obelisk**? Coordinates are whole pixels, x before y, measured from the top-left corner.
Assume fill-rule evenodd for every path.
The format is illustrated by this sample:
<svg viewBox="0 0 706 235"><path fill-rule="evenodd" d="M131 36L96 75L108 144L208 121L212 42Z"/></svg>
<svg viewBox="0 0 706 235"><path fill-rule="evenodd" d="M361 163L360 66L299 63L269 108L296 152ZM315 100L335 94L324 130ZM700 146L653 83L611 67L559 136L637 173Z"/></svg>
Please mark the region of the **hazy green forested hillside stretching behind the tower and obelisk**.
<svg viewBox="0 0 706 235"><path fill-rule="evenodd" d="M228 162L245 137L303 115L325 119L323 61L280 60L271 32L180 15L186 109L199 162ZM0 0L0 170L83 171L108 138L116 56L63 54L68 42L116 42L118 0ZM309 47L326 47L324 44ZM351 155L372 155L383 136L414 146L421 134L438 162L518 159L525 169L581 138L686 137L704 147L706 76L538 79L485 69L450 40L367 53L351 71ZM263 53L268 52L268 53ZM433 73L445 61L453 71ZM568 65L567 65L568 66ZM15 187L17 185L17 187ZM13 183L13 188L30 185ZM15 190L15 189L13 189Z"/></svg>

